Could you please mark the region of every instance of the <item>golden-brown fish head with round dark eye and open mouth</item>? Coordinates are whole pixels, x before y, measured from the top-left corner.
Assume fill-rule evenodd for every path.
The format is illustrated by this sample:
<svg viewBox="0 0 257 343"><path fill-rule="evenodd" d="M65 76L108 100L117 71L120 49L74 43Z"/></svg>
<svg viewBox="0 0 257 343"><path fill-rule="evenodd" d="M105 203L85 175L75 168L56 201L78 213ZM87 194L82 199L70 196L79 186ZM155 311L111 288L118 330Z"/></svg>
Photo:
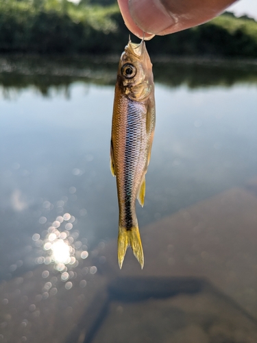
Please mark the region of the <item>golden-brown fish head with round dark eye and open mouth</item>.
<svg viewBox="0 0 257 343"><path fill-rule="evenodd" d="M147 99L154 88L152 64L145 41L129 41L121 55L118 71L119 87L124 95L138 102Z"/></svg>

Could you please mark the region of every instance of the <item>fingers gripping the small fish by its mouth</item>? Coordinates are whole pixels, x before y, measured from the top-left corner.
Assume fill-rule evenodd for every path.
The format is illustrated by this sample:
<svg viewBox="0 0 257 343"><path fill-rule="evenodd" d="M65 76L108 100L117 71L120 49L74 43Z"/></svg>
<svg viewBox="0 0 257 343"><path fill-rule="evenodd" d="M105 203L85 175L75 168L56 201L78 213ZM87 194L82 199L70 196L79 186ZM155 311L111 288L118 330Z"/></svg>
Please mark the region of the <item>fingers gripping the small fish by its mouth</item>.
<svg viewBox="0 0 257 343"><path fill-rule="evenodd" d="M172 34L218 16L236 0L118 0L125 25L145 40Z"/></svg>

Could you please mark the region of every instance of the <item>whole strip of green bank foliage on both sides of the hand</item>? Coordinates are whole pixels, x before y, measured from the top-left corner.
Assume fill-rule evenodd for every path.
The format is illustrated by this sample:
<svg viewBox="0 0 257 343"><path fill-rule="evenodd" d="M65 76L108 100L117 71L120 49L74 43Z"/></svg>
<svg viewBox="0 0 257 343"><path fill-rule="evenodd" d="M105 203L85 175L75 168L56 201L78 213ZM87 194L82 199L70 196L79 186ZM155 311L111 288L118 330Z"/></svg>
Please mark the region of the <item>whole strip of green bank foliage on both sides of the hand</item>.
<svg viewBox="0 0 257 343"><path fill-rule="evenodd" d="M128 30L112 0L0 0L0 52L121 54ZM102 3L104 5L99 5ZM147 43L150 54L257 57L257 23L225 13Z"/></svg>

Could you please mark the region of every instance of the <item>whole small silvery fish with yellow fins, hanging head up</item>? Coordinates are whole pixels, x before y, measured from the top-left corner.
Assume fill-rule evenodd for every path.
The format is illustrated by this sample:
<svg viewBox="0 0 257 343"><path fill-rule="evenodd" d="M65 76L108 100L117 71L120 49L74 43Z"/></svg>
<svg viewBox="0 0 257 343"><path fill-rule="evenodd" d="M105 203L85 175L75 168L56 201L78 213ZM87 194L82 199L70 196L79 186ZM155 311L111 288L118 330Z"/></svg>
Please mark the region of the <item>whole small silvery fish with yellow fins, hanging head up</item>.
<svg viewBox="0 0 257 343"><path fill-rule="evenodd" d="M136 198L143 206L155 121L154 76L145 41L129 40L119 62L110 144L110 169L116 176L119 202L119 268L128 246L141 268L144 265Z"/></svg>

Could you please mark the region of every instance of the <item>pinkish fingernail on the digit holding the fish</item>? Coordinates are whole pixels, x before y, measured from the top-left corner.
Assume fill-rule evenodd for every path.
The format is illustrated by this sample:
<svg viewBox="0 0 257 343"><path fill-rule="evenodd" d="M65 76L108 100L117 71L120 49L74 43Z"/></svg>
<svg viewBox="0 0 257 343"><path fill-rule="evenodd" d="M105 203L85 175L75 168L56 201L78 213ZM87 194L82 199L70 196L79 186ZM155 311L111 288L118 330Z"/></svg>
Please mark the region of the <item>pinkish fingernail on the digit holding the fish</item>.
<svg viewBox="0 0 257 343"><path fill-rule="evenodd" d="M140 29L158 34L175 24L160 0L129 0L130 15Z"/></svg>

